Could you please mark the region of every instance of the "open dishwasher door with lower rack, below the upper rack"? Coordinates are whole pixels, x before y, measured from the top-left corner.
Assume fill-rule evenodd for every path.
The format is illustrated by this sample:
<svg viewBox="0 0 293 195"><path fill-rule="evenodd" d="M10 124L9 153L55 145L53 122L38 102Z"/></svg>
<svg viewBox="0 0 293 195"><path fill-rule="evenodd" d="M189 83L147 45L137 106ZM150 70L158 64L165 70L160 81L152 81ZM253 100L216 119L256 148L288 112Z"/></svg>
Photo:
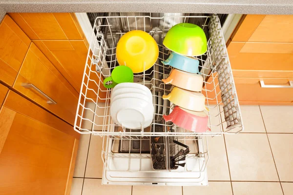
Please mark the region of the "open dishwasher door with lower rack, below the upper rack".
<svg viewBox="0 0 293 195"><path fill-rule="evenodd" d="M155 128L155 131L158 132L157 130L160 127L156 126ZM148 129L145 130L148 131ZM126 129L126 131L130 130ZM178 131L180 130L178 129ZM187 145L190 150L186 158L178 162L180 164L185 163L184 167L170 167L168 166L169 163L165 162L165 169L162 170L152 166L154 163L150 154L150 139L152 138L147 136L105 137L103 184L208 185L206 169L209 159L207 137L159 137L162 140L162 146L165 146L164 148L169 153L169 155L166 155L162 152L162 157L173 156L183 148L173 143L173 139Z"/></svg>

